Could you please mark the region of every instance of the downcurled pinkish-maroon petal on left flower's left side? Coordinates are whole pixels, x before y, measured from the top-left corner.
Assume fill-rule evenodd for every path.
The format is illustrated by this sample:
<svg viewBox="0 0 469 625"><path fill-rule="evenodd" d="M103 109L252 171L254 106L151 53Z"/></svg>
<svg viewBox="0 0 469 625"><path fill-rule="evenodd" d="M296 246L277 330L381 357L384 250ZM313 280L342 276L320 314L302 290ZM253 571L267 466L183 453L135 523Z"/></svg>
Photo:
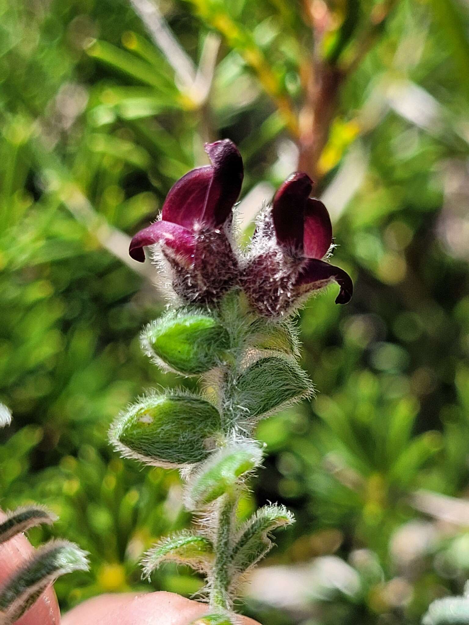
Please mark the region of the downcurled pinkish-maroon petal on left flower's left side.
<svg viewBox="0 0 469 625"><path fill-rule="evenodd" d="M137 232L129 246L130 256L138 262L144 262L144 246L161 243L178 256L190 259L194 256L194 236L188 229L169 221L156 221L151 226Z"/></svg>

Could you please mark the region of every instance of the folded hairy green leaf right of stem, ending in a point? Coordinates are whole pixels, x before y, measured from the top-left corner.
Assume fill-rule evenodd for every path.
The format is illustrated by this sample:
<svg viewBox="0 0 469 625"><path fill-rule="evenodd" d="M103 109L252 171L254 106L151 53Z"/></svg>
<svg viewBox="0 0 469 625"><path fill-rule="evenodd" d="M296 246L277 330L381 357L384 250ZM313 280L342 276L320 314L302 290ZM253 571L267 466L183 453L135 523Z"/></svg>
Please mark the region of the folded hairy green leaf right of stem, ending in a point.
<svg viewBox="0 0 469 625"><path fill-rule="evenodd" d="M281 356L268 356L241 373L236 402L249 417L258 418L309 397L313 392L312 382L295 362Z"/></svg>

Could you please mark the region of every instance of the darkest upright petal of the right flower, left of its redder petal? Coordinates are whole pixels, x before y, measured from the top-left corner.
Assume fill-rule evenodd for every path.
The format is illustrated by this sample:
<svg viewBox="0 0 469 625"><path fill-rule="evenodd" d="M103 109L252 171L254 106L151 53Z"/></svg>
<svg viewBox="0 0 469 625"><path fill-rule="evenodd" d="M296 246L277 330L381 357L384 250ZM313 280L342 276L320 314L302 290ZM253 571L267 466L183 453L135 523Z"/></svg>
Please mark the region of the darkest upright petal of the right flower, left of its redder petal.
<svg viewBox="0 0 469 625"><path fill-rule="evenodd" d="M296 173L286 179L275 194L272 217L277 241L303 254L304 213L313 189L307 174Z"/></svg>

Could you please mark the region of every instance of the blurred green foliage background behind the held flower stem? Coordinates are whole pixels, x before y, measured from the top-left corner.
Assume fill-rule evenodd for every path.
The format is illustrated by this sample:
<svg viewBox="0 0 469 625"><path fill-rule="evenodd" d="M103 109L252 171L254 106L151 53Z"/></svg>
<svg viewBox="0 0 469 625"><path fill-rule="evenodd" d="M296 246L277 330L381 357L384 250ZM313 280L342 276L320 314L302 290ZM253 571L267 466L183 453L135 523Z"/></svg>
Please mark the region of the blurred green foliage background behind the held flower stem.
<svg viewBox="0 0 469 625"><path fill-rule="evenodd" d="M203 142L228 136L247 231L298 158L314 161L335 264L355 281L349 306L331 289L301 312L318 396L261 423L267 468L240 511L285 503L297 523L270 564L328 562L332 581L312 575L283 605L254 583L243 609L271 625L418 623L469 576L467 6L158 6L176 56L124 0L0 0L0 401L14 415L0 504L48 504L53 531L91 552L89 574L56 586L64 609L141 589L141 552L189 524L178 476L121 461L106 431L142 387L176 384L139 349L164 301L128 236L204 163ZM345 78L308 161L314 41ZM153 586L200 581L168 566Z"/></svg>

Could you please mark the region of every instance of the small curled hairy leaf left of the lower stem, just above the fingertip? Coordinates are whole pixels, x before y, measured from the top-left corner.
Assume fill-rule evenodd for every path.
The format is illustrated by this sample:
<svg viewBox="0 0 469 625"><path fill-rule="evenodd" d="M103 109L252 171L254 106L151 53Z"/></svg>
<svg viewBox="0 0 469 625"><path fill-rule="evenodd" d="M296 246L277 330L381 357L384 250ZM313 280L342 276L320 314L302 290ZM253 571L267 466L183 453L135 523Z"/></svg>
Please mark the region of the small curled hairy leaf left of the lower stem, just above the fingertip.
<svg viewBox="0 0 469 625"><path fill-rule="evenodd" d="M213 544L208 538L182 531L161 539L146 552L143 564L143 577L148 578L163 562L187 564L196 571L206 571L213 559Z"/></svg>

